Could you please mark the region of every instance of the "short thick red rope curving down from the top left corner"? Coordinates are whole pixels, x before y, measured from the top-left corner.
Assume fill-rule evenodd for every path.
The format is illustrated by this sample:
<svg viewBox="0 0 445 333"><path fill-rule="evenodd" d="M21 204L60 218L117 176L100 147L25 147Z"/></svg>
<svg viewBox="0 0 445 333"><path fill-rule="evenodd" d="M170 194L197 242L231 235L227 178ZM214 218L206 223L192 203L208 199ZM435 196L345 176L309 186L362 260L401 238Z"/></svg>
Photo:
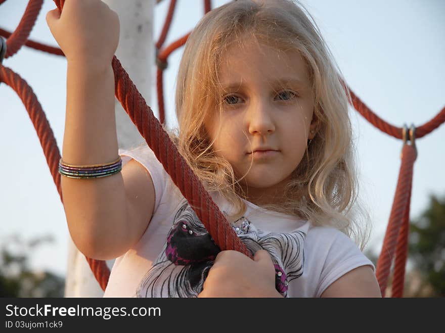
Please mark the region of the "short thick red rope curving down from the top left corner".
<svg viewBox="0 0 445 333"><path fill-rule="evenodd" d="M19 25L16 30L11 34L11 36L6 41L7 50L5 58L9 58L16 54L20 50L20 47L28 39L29 33L35 24L37 15L40 12L43 0L29 0L28 6L26 6L25 13L20 20Z"/></svg>

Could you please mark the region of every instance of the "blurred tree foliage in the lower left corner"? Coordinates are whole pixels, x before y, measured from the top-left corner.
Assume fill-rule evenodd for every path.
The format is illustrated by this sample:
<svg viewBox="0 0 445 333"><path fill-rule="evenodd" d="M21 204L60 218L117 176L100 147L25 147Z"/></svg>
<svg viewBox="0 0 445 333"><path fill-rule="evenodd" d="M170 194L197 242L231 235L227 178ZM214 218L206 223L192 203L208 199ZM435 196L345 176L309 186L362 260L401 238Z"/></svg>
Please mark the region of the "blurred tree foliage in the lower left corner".
<svg viewBox="0 0 445 333"><path fill-rule="evenodd" d="M63 297L65 279L48 271L33 271L28 256L52 237L23 241L18 236L3 240L0 248L0 297Z"/></svg>

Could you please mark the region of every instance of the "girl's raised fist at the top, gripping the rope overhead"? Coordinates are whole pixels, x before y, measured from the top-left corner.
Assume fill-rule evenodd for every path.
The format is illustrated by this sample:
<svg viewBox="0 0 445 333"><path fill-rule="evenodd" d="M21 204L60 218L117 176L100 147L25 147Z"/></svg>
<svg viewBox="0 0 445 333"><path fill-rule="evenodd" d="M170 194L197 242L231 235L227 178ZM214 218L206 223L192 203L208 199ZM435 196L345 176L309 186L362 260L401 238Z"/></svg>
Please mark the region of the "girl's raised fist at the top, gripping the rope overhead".
<svg viewBox="0 0 445 333"><path fill-rule="evenodd" d="M68 62L111 64L119 42L119 18L100 0L65 0L62 13L49 11L47 23Z"/></svg>

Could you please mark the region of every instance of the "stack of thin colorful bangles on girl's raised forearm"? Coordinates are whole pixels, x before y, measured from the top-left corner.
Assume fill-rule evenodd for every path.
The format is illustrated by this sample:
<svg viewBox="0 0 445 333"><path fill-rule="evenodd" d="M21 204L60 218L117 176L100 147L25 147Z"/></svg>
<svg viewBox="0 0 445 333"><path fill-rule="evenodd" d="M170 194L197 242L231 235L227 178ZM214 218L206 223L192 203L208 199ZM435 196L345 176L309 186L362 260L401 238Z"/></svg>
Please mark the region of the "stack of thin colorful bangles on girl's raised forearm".
<svg viewBox="0 0 445 333"><path fill-rule="evenodd" d="M60 159L59 173L69 178L100 178L111 176L122 170L122 160L120 156L117 160L107 164L95 165L70 165Z"/></svg>

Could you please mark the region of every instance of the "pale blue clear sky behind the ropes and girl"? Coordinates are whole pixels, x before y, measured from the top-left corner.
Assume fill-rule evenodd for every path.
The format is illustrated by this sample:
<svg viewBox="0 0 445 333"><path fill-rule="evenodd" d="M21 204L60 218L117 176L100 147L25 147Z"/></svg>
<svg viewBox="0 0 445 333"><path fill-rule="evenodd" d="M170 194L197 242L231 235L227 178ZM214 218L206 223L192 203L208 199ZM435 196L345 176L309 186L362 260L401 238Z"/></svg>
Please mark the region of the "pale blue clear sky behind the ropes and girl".
<svg viewBox="0 0 445 333"><path fill-rule="evenodd" d="M213 0L213 6L227 1ZM0 6L0 27L14 30L27 0ZM155 8L158 38L169 1ZM193 4L193 5L191 5ZM196 4L196 6L195 6ZM347 83L383 119L396 126L421 125L445 106L445 2L442 0L305 0ZM44 2L30 38L56 45L45 21L55 8ZM201 0L179 0L166 44L189 31L202 16ZM182 51L169 59L164 77L167 122L175 126L175 74ZM4 65L33 88L61 149L65 121L66 60L28 47ZM149 105L157 115L154 90ZM373 222L368 249L376 254L386 229L400 166L402 143L379 131L351 111L361 178L361 198ZM419 216L430 194L445 194L445 126L417 141L411 218ZM4 162L0 183L0 241L14 233L25 240L54 236L54 243L31 254L32 267L65 275L68 228L63 207L35 130L17 94L0 84L0 147Z"/></svg>

